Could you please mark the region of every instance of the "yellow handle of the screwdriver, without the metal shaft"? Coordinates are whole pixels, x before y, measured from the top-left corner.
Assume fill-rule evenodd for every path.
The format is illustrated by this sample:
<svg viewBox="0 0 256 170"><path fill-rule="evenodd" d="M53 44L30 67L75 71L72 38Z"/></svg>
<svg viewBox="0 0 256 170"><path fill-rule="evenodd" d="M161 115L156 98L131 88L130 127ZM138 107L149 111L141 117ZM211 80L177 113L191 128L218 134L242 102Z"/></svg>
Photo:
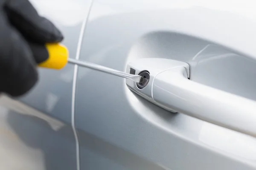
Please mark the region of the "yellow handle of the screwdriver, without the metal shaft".
<svg viewBox="0 0 256 170"><path fill-rule="evenodd" d="M49 58L38 66L52 69L64 68L69 57L67 47L59 43L48 43L45 46L49 53Z"/></svg>

